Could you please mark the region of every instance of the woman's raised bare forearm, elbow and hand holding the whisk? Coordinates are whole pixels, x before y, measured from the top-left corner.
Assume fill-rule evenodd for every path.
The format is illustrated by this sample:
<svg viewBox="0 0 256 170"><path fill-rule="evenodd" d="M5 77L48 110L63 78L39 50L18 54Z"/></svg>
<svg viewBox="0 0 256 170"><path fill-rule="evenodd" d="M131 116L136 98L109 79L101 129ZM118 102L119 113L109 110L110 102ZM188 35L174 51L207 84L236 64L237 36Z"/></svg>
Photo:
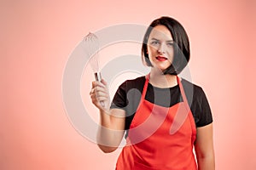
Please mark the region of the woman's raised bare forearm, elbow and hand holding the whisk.
<svg viewBox="0 0 256 170"><path fill-rule="evenodd" d="M104 80L102 82L92 82L90 98L100 111L97 144L103 152L113 152L118 148L125 133L125 111L109 109L108 86Z"/></svg>

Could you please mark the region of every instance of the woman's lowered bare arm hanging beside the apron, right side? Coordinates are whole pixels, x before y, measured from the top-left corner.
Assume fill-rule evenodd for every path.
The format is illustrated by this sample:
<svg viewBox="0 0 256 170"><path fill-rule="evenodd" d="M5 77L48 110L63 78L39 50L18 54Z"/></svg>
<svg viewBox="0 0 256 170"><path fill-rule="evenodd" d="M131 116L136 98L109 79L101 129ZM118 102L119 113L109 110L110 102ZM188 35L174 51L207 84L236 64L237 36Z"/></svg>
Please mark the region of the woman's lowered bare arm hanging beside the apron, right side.
<svg viewBox="0 0 256 170"><path fill-rule="evenodd" d="M214 170L215 159L212 139L212 123L204 127L197 127L195 154L198 170Z"/></svg>

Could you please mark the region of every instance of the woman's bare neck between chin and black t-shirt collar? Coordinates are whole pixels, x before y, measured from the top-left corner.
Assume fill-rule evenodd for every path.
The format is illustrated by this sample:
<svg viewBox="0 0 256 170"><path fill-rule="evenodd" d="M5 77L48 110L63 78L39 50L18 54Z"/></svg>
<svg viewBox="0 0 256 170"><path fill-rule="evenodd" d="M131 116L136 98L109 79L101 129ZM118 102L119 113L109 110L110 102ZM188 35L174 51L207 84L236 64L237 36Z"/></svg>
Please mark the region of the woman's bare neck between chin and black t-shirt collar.
<svg viewBox="0 0 256 170"><path fill-rule="evenodd" d="M164 75L160 71L151 71L149 82L157 88L172 88L177 85L177 78L175 75Z"/></svg>

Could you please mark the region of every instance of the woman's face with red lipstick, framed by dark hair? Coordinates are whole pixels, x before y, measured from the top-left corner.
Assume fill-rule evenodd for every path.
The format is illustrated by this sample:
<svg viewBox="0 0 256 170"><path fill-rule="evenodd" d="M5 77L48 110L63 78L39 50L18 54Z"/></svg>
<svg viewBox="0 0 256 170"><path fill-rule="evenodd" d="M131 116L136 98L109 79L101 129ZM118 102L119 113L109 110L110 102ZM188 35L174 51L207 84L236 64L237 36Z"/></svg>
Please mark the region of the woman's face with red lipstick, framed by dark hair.
<svg viewBox="0 0 256 170"><path fill-rule="evenodd" d="M153 65L160 71L166 70L173 60L173 39L166 26L154 26L148 37L148 57Z"/></svg>

